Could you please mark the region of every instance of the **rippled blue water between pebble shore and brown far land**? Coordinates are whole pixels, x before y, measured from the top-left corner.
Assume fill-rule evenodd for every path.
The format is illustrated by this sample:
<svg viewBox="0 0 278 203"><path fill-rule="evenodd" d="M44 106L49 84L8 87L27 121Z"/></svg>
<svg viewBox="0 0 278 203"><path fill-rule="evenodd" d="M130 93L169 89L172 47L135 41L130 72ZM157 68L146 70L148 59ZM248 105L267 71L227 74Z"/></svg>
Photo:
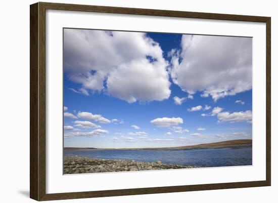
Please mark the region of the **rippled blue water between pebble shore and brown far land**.
<svg viewBox="0 0 278 203"><path fill-rule="evenodd" d="M75 155L144 162L161 160L163 164L180 166L223 167L252 165L252 146L186 150L64 150L64 156Z"/></svg>

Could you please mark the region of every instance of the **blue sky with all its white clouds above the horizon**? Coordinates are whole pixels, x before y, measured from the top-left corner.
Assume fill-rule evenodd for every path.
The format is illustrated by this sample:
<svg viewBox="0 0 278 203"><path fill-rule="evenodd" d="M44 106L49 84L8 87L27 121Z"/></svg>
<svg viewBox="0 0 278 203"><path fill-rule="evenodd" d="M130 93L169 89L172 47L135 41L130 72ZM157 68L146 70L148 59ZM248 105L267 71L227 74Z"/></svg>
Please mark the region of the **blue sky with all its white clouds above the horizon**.
<svg viewBox="0 0 278 203"><path fill-rule="evenodd" d="M64 29L64 146L252 139L252 38Z"/></svg>

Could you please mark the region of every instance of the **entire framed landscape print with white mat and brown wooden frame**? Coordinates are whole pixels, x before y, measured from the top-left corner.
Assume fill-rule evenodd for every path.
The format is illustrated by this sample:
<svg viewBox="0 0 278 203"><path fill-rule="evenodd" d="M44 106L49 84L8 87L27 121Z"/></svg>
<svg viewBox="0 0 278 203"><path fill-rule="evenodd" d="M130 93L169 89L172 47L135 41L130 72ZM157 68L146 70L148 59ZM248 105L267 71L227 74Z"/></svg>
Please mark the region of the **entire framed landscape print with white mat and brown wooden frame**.
<svg viewBox="0 0 278 203"><path fill-rule="evenodd" d="M30 197L270 186L270 17L30 6Z"/></svg>

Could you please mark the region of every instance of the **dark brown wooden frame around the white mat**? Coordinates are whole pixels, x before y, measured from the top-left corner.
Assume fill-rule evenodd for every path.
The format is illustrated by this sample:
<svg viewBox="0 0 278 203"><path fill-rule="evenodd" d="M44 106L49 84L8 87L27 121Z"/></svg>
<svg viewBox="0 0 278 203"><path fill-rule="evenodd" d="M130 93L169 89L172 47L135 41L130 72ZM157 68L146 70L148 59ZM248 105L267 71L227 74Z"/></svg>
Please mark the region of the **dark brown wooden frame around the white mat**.
<svg viewBox="0 0 278 203"><path fill-rule="evenodd" d="M266 180L217 183L202 185L131 188L103 191L68 193L45 193L45 11L66 10L114 14L135 14L214 20L248 21L266 23ZM270 17L243 16L213 13L196 13L152 9L86 6L56 3L30 5L30 198L35 200L73 199L164 192L183 192L226 188L270 186L271 184L271 141L270 141Z"/></svg>

